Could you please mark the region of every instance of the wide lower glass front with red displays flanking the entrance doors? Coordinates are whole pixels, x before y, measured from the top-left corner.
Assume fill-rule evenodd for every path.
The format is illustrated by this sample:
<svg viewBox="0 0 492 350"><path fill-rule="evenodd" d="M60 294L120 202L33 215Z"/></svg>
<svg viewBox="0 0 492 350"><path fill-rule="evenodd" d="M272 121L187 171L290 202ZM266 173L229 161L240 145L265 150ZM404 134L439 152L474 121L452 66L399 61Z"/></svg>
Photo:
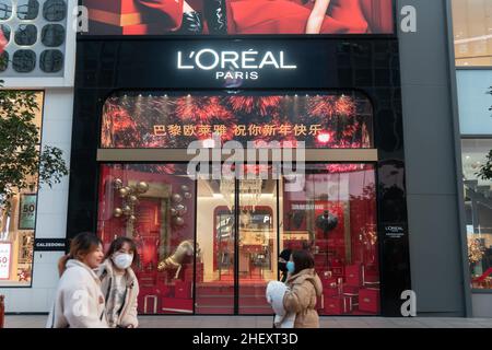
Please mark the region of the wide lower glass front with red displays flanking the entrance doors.
<svg viewBox="0 0 492 350"><path fill-rule="evenodd" d="M280 252L307 248L320 314L379 314L374 165L308 164L295 192L286 178L186 174L186 164L101 165L97 231L106 247L137 241L140 313L270 315Z"/></svg>

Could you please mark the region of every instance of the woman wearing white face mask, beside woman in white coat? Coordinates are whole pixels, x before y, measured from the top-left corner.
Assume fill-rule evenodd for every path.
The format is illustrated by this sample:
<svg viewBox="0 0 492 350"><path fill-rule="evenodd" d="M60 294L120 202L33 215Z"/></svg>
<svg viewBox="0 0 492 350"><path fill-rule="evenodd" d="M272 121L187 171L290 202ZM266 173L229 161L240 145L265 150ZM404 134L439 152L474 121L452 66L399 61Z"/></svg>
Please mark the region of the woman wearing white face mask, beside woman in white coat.
<svg viewBox="0 0 492 350"><path fill-rule="evenodd" d="M138 260L137 245L128 237L113 241L97 270L106 300L106 318L112 328L137 328L139 282L131 269Z"/></svg>

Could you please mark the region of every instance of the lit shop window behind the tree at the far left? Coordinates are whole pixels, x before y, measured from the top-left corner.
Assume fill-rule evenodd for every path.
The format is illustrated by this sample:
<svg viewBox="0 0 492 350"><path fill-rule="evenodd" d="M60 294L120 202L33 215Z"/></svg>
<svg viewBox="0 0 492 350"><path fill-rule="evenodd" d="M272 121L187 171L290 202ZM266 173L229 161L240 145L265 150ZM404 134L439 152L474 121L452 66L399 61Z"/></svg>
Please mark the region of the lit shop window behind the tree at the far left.
<svg viewBox="0 0 492 350"><path fill-rule="evenodd" d="M38 130L42 127L43 96L43 92L36 92L39 109L34 124ZM37 175L32 180L37 183L36 179ZM30 287L33 275L37 186L21 189L10 203L10 212L0 209L0 287Z"/></svg>

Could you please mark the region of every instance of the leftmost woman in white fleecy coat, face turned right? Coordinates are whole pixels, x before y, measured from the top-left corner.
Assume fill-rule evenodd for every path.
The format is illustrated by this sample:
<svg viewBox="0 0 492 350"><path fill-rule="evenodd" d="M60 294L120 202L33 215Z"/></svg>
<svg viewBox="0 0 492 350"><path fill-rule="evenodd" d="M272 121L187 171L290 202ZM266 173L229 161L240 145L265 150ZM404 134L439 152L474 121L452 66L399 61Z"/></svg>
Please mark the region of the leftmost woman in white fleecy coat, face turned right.
<svg viewBox="0 0 492 350"><path fill-rule="evenodd" d="M95 234L84 232L72 240L47 328L108 327L101 281L94 272L103 258L103 244Z"/></svg>

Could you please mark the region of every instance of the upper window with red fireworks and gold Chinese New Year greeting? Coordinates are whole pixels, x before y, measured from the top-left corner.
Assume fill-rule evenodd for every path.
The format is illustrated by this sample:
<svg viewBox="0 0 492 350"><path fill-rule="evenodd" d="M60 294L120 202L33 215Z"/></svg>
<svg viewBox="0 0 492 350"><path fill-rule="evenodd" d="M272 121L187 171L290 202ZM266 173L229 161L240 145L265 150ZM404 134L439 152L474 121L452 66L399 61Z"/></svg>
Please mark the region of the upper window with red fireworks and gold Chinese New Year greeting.
<svg viewBox="0 0 492 350"><path fill-rule="evenodd" d="M102 148L186 149L191 141L305 141L306 148L373 147L373 109L350 92L257 95L121 92L103 109ZM289 145L288 145L289 147Z"/></svg>

